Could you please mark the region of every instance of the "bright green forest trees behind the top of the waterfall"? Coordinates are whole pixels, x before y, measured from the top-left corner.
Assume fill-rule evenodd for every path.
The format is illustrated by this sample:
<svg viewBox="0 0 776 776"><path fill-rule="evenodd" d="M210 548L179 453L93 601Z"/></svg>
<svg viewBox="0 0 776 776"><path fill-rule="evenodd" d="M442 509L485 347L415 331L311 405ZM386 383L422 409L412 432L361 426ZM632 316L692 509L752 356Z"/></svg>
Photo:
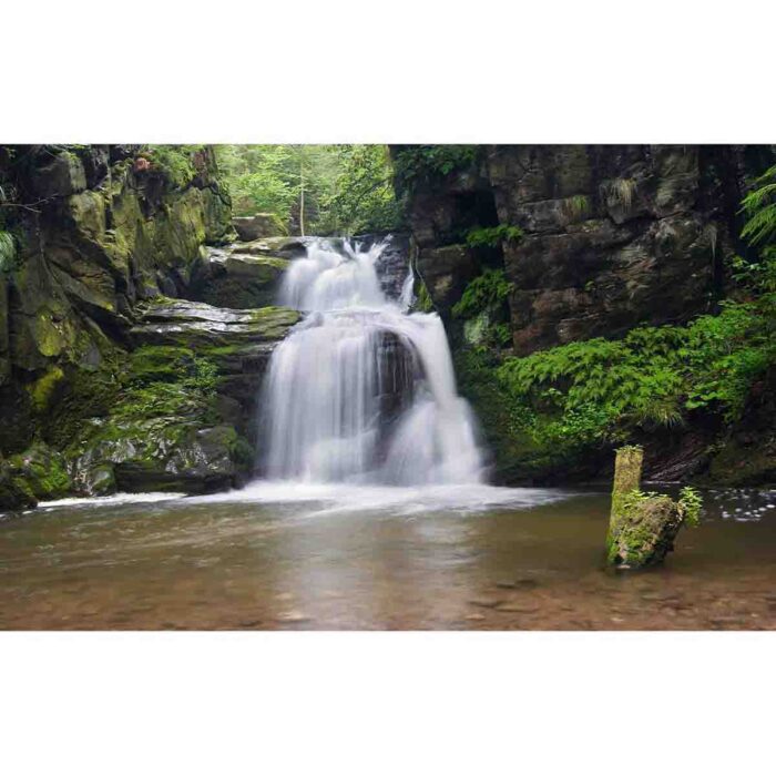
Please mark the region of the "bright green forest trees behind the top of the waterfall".
<svg viewBox="0 0 776 776"><path fill-rule="evenodd" d="M274 213L293 234L402 226L386 145L219 145L235 215Z"/></svg>

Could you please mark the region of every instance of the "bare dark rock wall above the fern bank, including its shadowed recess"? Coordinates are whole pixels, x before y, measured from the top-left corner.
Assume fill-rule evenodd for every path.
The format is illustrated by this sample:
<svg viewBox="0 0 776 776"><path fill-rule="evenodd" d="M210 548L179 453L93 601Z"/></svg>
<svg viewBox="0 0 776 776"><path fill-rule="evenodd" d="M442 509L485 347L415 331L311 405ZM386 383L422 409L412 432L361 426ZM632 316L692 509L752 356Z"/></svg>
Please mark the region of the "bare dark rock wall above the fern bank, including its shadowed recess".
<svg viewBox="0 0 776 776"><path fill-rule="evenodd" d="M712 146L493 145L409 194L417 266L445 314L459 279L503 267L517 355L707 309L735 249L742 152ZM491 255L473 227L519 226Z"/></svg>

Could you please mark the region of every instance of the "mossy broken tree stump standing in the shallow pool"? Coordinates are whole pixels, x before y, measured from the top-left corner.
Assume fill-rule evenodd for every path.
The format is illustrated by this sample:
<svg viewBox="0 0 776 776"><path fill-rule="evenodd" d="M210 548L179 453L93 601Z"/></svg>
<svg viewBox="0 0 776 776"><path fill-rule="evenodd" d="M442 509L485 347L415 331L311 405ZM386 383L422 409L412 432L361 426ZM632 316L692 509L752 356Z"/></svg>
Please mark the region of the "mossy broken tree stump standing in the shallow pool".
<svg viewBox="0 0 776 776"><path fill-rule="evenodd" d="M644 451L624 447L616 451L612 512L606 538L606 561L620 568L637 569L662 563L674 549L674 539L690 508L683 498L642 493ZM693 503L697 497L690 497ZM694 519L697 508L692 509Z"/></svg>

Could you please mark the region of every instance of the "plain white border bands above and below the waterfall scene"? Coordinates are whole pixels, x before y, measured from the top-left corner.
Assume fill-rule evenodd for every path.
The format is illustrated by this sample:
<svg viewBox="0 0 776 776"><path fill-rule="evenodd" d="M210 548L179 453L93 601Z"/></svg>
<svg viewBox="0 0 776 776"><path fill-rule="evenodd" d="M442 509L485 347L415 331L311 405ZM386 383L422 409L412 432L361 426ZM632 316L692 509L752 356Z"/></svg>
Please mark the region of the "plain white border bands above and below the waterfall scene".
<svg viewBox="0 0 776 776"><path fill-rule="evenodd" d="M776 141L762 1L251 8L4 8L0 142ZM773 767L774 646L1 634L0 769L758 773Z"/></svg>

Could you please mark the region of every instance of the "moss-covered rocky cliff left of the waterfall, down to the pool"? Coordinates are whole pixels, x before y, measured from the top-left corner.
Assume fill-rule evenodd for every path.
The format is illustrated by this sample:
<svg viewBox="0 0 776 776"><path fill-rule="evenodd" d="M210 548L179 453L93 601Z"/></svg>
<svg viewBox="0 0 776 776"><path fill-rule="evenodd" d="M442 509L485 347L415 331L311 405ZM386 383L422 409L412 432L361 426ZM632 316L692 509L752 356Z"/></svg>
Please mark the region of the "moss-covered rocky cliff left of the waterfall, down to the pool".
<svg viewBox="0 0 776 776"><path fill-rule="evenodd" d="M229 247L213 150L2 146L0 190L0 501L249 471L261 370L297 315L264 307L283 246Z"/></svg>

